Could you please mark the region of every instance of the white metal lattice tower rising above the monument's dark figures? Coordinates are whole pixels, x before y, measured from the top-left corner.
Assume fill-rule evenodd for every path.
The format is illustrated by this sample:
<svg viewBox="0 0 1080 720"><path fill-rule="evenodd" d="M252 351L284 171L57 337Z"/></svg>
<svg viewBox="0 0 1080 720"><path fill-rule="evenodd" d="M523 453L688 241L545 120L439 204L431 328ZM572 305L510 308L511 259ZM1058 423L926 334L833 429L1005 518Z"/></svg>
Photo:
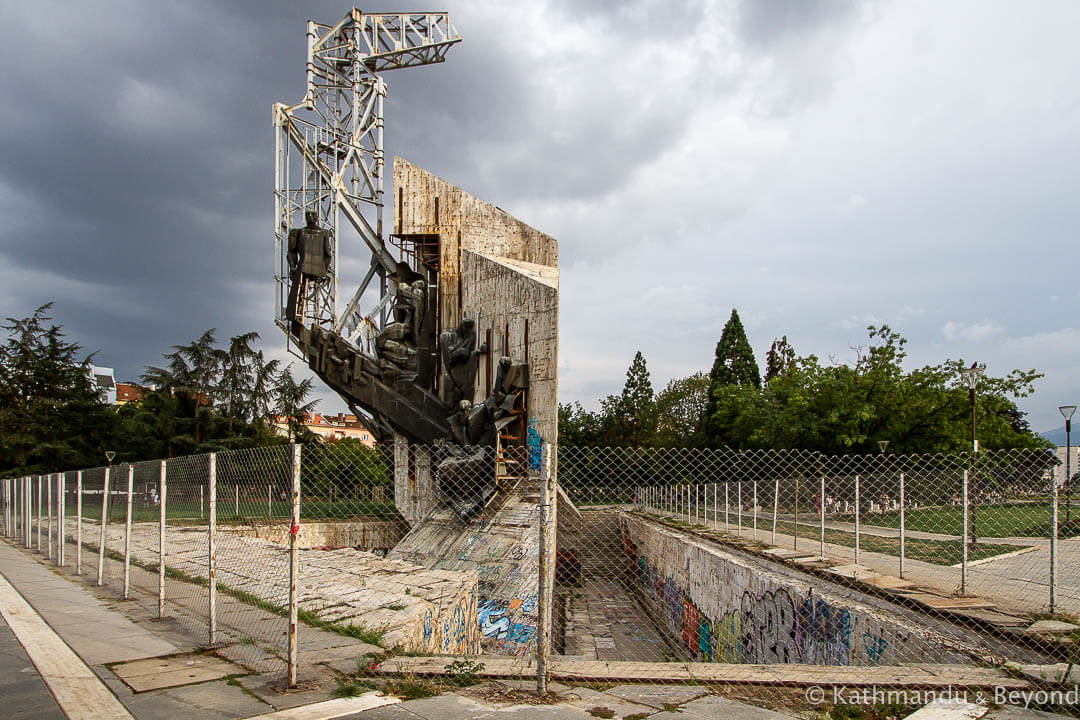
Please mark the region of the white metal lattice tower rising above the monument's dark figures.
<svg viewBox="0 0 1080 720"><path fill-rule="evenodd" d="M386 323L387 276L396 260L382 234L382 104L386 70L442 63L461 41L448 13L362 13L355 8L336 25L308 22L307 91L292 106L274 104L275 318L288 332L285 303L291 228L315 210L330 231L333 259L325 280L310 283L297 315L370 354L370 339ZM372 266L338 313L340 216L355 229ZM364 307L378 280L379 300ZM368 296L370 297L370 296Z"/></svg>

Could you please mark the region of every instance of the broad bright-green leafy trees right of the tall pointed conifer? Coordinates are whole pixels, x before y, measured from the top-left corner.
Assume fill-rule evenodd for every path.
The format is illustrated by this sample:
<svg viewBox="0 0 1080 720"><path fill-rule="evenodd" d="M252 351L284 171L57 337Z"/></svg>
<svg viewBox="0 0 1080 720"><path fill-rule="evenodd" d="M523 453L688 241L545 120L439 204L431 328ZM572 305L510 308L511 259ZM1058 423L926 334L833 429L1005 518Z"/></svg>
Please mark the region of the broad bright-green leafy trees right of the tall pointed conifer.
<svg viewBox="0 0 1080 720"><path fill-rule="evenodd" d="M888 326L869 327L870 345L853 365L798 357L762 390L728 385L714 392L710 427L738 449L796 448L825 453L963 452L971 410L960 385L962 361L905 371L906 340ZM1010 397L1030 393L1041 373L1013 370L978 386L980 444L986 449L1047 447L1021 422Z"/></svg>

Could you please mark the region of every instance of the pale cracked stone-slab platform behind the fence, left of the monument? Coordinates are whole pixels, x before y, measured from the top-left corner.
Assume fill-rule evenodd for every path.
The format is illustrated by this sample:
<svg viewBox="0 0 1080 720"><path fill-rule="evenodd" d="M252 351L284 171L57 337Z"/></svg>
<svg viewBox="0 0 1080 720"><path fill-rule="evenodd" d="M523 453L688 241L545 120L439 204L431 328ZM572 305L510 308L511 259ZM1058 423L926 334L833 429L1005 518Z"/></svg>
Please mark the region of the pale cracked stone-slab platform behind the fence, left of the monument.
<svg viewBox="0 0 1080 720"><path fill-rule="evenodd" d="M95 529L96 530L96 529ZM73 533L73 522L67 529ZM109 527L106 546L123 546L122 527ZM97 533L83 538L97 540ZM168 568L205 578L204 528L170 527ZM259 538L218 533L217 582L278 607L288 603L288 549ZM157 566L158 526L132 527L132 559ZM320 620L383 633L382 644L415 652L468 653L480 650L476 573L427 568L354 551L300 552L301 610Z"/></svg>

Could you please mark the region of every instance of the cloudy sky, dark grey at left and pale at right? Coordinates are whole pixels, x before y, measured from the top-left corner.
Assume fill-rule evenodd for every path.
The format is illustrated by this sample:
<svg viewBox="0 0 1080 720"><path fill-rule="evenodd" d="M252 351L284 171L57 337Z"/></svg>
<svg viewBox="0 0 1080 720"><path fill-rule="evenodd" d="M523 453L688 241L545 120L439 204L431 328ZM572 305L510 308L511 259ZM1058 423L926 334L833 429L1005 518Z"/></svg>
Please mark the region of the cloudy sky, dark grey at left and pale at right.
<svg viewBox="0 0 1080 720"><path fill-rule="evenodd" d="M0 315L54 302L121 380L210 327L286 359L270 109L306 21L349 6L3 3ZM707 371L735 308L762 368L781 336L852 363L887 323L910 368L1044 372L1035 430L1080 404L1080 3L434 9L463 40L384 76L387 154L558 240L561 402L636 351L657 390Z"/></svg>

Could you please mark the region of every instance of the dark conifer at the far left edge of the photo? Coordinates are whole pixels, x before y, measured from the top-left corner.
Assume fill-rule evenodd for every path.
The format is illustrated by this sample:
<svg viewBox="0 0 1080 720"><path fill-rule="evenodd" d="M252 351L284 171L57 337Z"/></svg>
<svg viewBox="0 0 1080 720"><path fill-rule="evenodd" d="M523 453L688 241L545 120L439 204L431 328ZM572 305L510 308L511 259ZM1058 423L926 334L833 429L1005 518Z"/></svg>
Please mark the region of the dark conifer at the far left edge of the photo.
<svg viewBox="0 0 1080 720"><path fill-rule="evenodd" d="M0 345L0 472L45 473L98 464L117 420L91 376L92 356L48 315L8 318Z"/></svg>

